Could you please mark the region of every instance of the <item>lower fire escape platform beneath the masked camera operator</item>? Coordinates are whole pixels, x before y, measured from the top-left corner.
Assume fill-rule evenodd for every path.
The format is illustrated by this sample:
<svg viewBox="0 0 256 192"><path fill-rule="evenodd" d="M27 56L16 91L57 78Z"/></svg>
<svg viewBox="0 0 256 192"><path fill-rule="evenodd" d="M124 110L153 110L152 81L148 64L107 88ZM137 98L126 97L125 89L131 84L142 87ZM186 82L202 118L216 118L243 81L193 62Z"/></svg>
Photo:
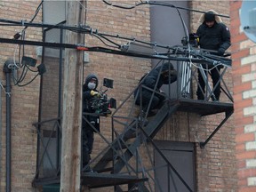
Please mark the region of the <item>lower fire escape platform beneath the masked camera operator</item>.
<svg viewBox="0 0 256 192"><path fill-rule="evenodd" d="M81 184L89 188L104 188L116 185L139 183L147 180L148 178L139 179L136 176L123 174L84 172L81 175Z"/></svg>

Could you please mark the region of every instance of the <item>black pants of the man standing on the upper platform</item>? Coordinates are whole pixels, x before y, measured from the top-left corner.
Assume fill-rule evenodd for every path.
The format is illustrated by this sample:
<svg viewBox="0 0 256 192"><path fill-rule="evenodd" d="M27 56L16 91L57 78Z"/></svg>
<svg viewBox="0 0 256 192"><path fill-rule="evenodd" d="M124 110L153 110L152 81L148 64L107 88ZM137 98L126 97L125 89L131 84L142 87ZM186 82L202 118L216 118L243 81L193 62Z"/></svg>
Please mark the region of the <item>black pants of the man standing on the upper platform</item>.
<svg viewBox="0 0 256 192"><path fill-rule="evenodd" d="M203 67L205 69L205 67ZM218 81L220 80L220 68L221 67L217 67L217 68L212 68L211 70L211 76L212 76L212 84L213 84L213 93L215 95L215 99L216 100L220 100L220 82L219 84ZM204 76L202 76L200 70L198 69L197 70L198 72L198 86L197 86L197 91L196 91L196 95L197 95L197 99L198 100L204 100L204 92L205 92L205 82L204 82ZM204 74L207 78L207 71L204 70ZM206 82L207 82L207 79L206 79ZM200 89L200 87L202 88L202 90ZM213 99L213 97L212 97Z"/></svg>

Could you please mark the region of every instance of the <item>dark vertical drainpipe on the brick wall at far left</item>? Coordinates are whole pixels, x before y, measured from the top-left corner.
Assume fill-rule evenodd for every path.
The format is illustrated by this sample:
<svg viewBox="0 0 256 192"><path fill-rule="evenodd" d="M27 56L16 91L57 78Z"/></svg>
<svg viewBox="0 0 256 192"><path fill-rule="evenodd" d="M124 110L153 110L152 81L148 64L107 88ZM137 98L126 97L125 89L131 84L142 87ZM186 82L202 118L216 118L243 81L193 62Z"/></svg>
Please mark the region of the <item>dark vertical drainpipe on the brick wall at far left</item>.
<svg viewBox="0 0 256 192"><path fill-rule="evenodd" d="M11 73L13 60L6 60L4 73L6 77L6 192L11 192Z"/></svg>

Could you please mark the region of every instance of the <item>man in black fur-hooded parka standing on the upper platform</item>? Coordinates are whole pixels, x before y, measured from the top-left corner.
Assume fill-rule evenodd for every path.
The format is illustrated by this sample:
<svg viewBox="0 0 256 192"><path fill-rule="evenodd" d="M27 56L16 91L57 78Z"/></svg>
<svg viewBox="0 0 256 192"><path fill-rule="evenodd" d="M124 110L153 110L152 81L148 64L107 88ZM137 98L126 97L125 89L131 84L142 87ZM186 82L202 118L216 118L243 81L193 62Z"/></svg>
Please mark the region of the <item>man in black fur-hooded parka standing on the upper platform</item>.
<svg viewBox="0 0 256 192"><path fill-rule="evenodd" d="M210 10L201 16L200 21L202 22L202 24L199 26L199 28L197 28L196 35L199 37L200 48L215 51L210 52L211 54L223 56L224 52L230 46L230 32L227 26L222 23L220 16L216 14L217 12ZM206 67L203 65L203 68L205 69ZM212 66L210 66L209 69L211 68ZM213 93L215 96L215 98L212 97L212 100L214 101L220 100L220 83L217 84L220 79L220 68L222 68L222 66L211 69L212 84L214 88ZM205 75L206 72L207 71L204 70ZM204 77L199 70L198 82L199 84L197 86L196 92L197 99L204 100L205 82Z"/></svg>

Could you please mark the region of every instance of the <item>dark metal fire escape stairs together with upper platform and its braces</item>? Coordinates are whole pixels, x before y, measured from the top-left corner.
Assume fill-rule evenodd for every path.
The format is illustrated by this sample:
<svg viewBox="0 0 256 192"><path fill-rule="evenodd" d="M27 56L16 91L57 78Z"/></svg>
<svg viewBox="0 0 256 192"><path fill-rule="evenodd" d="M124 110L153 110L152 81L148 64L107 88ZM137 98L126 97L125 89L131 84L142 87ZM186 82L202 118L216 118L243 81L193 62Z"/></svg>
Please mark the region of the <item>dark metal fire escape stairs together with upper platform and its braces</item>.
<svg viewBox="0 0 256 192"><path fill-rule="evenodd" d="M187 63L185 63L185 65L187 65ZM185 70L188 70L188 68L185 68ZM187 86L190 86L188 82L190 82L193 77L195 77L195 72L189 74L188 78L186 79L187 83L183 84L184 89ZM177 89L179 87L180 86L178 84ZM170 90L171 88L169 86L167 91L169 92L169 95L171 95ZM156 90L153 90L152 92L156 92ZM174 92L177 91L175 90ZM182 92L180 92L180 95L181 93ZM130 100L130 97L132 95L133 92L127 97L126 100L124 100L124 103L127 100ZM150 168L145 168L146 165L142 164L143 157L141 157L142 155L140 155L144 153L141 153L140 148L143 148L143 146L146 146L146 148L148 148L147 146L151 146L154 148L154 150L161 154L156 145L154 144L153 139L156 136L156 133L159 132L159 130L163 127L164 123L176 111L196 113L200 116L209 116L224 112L226 114L225 118L220 122L220 124L212 132L212 134L204 142L200 143L200 147L204 148L207 142L212 139L212 136L216 132L218 132L220 127L223 124L225 124L228 118L233 114L234 110L233 103L217 103L208 100L193 100L191 98L188 98L188 95L186 95L186 97L180 97L180 95L178 94L178 97L176 98L167 98L164 101L164 105L162 106L162 108L159 108L158 112L156 113L156 116L146 117L147 120L145 120L145 118L141 116L135 115L136 113L134 112L134 103L130 108L128 116L116 115L118 110L124 107L124 103L119 108L117 108L117 112L112 116L112 122L122 124L124 126L124 129L123 131L121 131L121 133L118 133L118 131L120 132L120 130L118 130L118 128L116 128L116 125L114 125L113 123L113 140L112 142L108 143L107 148L104 148L100 152L100 156L96 156L95 159L97 160L92 160L92 164L93 161L95 161L92 166L92 169L98 173L104 174L108 172L114 175L135 175L138 178L138 180L134 180L133 185L131 185L132 183L128 185L129 187L127 191L132 191L133 188L137 188L138 191L162 191L161 186L157 184L157 179L155 179L154 176L152 176L152 172L154 175L154 172L156 170L156 167L154 167L155 164L152 163L154 160L151 160ZM229 94L228 98L230 98ZM124 122L122 122L122 120L119 120L122 118L124 118ZM148 149L148 154L148 156L150 156L150 149ZM164 161L166 161L166 164L168 164L168 167L166 167L166 169L172 170L172 173L176 174L176 176L180 179L180 181L188 189L188 191L194 191L194 189L190 188L186 181L182 179L180 173L175 170L172 164L170 164L168 160L165 158ZM152 182L154 183L153 187L150 186L150 183ZM119 186L118 184L116 184L115 189L118 192L126 191L122 189L122 187Z"/></svg>

